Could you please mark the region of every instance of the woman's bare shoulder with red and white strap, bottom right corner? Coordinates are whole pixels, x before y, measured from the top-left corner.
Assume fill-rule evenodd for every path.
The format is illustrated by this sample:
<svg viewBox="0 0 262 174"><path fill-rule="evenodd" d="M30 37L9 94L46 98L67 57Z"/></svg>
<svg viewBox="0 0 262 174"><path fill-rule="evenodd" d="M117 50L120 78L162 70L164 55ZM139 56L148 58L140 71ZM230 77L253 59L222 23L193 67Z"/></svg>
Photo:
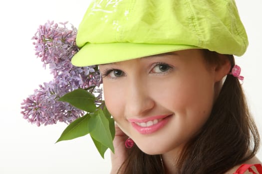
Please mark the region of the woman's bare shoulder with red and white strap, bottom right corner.
<svg viewBox="0 0 262 174"><path fill-rule="evenodd" d="M262 163L257 157L253 157L243 164L235 166L225 174L262 174Z"/></svg>

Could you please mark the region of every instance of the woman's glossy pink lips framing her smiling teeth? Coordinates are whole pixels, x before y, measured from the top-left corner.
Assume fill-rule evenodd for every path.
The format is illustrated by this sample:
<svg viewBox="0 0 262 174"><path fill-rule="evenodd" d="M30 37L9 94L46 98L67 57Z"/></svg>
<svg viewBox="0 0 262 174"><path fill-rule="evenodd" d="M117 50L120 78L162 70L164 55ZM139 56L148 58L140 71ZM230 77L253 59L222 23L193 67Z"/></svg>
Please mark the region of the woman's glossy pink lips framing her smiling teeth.
<svg viewBox="0 0 262 174"><path fill-rule="evenodd" d="M149 117L146 119L128 119L129 122L131 122L131 125L141 134L152 134L156 131L158 131L159 129L161 129L162 127L164 127L169 119L171 118L170 116L172 115L158 115L158 116L153 116L153 117ZM137 125L135 122L148 122L148 121L153 121L155 119L161 119L161 121L159 121L157 124L154 124L152 126L149 127L141 127L139 125Z"/></svg>

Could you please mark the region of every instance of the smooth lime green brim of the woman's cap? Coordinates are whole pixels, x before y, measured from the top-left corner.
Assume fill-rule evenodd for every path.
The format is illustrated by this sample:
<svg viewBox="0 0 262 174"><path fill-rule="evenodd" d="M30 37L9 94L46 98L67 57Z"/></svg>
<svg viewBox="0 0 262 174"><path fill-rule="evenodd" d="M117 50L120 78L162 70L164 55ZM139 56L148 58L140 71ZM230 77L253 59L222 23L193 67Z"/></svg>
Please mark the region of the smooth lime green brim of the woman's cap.
<svg viewBox="0 0 262 174"><path fill-rule="evenodd" d="M87 43L73 56L71 62L74 66L85 67L193 48L198 47L174 44Z"/></svg>

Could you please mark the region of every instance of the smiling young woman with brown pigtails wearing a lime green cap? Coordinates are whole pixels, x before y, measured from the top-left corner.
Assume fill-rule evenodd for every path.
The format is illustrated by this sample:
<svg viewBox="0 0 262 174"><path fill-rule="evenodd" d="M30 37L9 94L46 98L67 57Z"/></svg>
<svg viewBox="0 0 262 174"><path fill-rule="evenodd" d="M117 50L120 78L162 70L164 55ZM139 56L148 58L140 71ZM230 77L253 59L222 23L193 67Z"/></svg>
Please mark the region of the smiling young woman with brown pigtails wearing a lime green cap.
<svg viewBox="0 0 262 174"><path fill-rule="evenodd" d="M262 173L234 0L93 1L76 41L116 122L112 174Z"/></svg>

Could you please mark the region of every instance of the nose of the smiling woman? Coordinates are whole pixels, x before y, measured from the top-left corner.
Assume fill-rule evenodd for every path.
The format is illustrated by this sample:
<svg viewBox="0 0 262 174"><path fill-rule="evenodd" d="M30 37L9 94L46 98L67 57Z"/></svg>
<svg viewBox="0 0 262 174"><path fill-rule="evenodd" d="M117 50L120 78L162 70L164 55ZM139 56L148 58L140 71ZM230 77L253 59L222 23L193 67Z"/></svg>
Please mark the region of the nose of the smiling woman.
<svg viewBox="0 0 262 174"><path fill-rule="evenodd" d="M127 115L143 116L148 114L155 106L150 96L146 82L143 80L131 81L127 87L125 111Z"/></svg>

